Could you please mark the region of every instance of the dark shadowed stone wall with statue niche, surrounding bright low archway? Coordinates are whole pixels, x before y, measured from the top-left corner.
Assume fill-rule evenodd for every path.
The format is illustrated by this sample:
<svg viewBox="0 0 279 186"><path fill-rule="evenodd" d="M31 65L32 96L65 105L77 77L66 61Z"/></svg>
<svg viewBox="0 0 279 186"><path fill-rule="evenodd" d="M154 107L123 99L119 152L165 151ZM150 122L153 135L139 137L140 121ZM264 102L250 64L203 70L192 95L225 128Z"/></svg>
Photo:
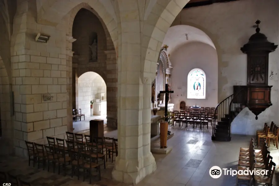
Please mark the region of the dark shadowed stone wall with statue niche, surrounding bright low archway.
<svg viewBox="0 0 279 186"><path fill-rule="evenodd" d="M98 37L98 60L91 63L88 45L92 43L89 38L93 32L97 33ZM115 128L117 127L117 60L108 30L95 11L82 9L73 19L73 37L77 39L73 42L75 52L73 64L76 65L77 75L79 77L91 71L98 73L104 79L107 86L107 125ZM73 96L73 99L77 98L77 95Z"/></svg>

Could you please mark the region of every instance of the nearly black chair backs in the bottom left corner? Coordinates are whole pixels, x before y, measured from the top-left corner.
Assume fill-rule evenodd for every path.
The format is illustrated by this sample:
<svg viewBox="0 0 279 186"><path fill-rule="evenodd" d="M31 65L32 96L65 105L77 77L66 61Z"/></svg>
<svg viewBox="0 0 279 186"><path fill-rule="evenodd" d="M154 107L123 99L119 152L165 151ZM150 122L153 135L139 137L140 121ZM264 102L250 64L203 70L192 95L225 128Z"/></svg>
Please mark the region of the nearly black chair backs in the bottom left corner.
<svg viewBox="0 0 279 186"><path fill-rule="evenodd" d="M29 182L24 181L19 176L14 176L7 172L0 171L0 183L10 183L11 186L31 186Z"/></svg>

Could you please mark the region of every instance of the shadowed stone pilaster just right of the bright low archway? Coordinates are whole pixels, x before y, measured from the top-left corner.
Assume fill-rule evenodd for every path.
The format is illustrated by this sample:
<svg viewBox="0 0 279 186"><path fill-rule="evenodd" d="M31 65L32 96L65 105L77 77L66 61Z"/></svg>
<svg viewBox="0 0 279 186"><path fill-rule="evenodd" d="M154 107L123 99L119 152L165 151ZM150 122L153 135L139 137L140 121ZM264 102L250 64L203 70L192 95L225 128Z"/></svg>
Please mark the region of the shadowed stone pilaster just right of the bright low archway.
<svg viewBox="0 0 279 186"><path fill-rule="evenodd" d="M117 128L117 60L115 50L105 51L107 55L107 126Z"/></svg>

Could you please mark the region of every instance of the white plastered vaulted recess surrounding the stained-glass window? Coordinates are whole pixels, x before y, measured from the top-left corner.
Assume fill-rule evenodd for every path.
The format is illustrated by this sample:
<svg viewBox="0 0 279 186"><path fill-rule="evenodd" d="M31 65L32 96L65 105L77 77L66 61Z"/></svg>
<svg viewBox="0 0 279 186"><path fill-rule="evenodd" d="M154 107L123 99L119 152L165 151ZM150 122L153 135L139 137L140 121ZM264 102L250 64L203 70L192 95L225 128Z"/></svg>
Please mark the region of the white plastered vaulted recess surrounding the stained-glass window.
<svg viewBox="0 0 279 186"><path fill-rule="evenodd" d="M221 55L216 49L218 43L199 28L190 25L175 25L168 29L162 45L168 46L167 52L173 66L171 84L176 93L173 94L171 102L178 105L184 100L187 105L197 103L209 107L216 106L218 104L218 64ZM187 75L195 68L204 69L209 78L206 85L209 89L205 91L206 96L202 98L203 100L187 98L189 88ZM184 73L183 77L181 73Z"/></svg>

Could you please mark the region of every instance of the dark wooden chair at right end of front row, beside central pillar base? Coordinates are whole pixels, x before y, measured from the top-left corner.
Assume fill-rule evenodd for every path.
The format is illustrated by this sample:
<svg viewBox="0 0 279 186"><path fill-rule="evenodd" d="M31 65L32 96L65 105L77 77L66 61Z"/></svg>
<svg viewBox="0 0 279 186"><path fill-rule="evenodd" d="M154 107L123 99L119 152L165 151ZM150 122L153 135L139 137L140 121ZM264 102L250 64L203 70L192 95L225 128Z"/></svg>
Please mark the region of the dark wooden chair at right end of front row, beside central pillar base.
<svg viewBox="0 0 279 186"><path fill-rule="evenodd" d="M96 145L95 147L93 147L93 145L89 145L90 149L94 149L94 148L98 148L98 146ZM98 154L98 153L97 153ZM98 175L99 175L99 180L101 180L101 168L100 165L94 162L94 156L95 153L92 150L88 150L86 151L86 153L79 151L79 156L82 157L81 158L81 168L83 168L83 181L85 181L85 174L86 174L86 170L88 170L88 174L89 174L89 184L91 184L91 176L92 176L92 169L97 169L98 171ZM97 155L98 157L98 155Z"/></svg>

